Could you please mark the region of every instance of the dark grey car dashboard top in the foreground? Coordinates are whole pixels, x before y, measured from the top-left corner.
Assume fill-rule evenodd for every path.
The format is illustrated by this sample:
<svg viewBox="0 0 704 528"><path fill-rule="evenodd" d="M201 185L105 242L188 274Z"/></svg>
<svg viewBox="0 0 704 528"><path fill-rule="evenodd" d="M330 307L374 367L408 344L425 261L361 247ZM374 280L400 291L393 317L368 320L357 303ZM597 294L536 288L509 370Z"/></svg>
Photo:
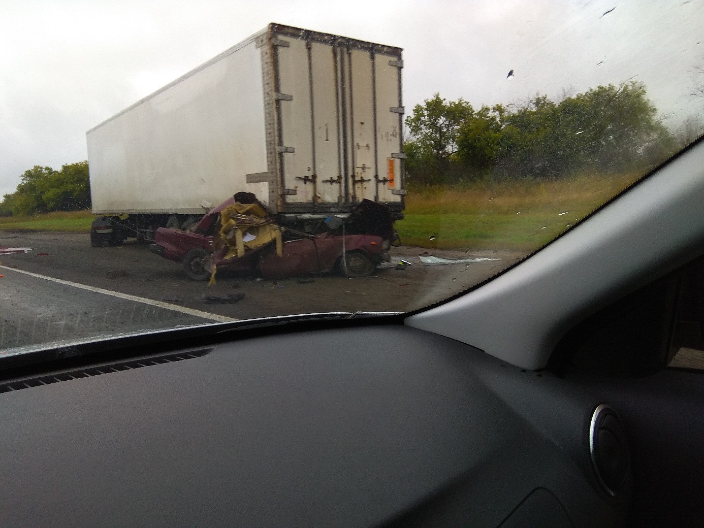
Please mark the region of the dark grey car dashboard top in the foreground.
<svg viewBox="0 0 704 528"><path fill-rule="evenodd" d="M0 387L3 526L610 526L597 396L402 325L279 332Z"/></svg>

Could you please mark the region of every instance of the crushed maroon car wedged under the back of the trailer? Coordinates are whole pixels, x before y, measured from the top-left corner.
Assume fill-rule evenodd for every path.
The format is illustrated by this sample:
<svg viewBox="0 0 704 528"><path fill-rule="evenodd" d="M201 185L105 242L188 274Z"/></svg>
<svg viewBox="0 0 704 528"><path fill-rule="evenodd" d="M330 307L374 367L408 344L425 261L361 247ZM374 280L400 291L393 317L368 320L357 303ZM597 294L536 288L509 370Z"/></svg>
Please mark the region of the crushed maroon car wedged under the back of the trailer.
<svg viewBox="0 0 704 528"><path fill-rule="evenodd" d="M213 270L259 272L265 279L326 272L365 277L373 275L379 263L389 260L389 246L396 237L393 218L388 208L370 200L358 203L346 218L322 217L306 222L304 230L287 227L292 223L287 218L272 216L268 222L275 223L281 232L280 256L275 241L254 249L245 247L244 254L237 256L227 244L218 244L224 227L220 217L229 206L251 203L251 199L242 199L243 195L246 193L235 194L187 230L160 227L156 230L156 244L149 249L181 263L185 275L193 280L206 280ZM296 227L301 227L300 222ZM250 240L253 238L249 232L247 235Z"/></svg>

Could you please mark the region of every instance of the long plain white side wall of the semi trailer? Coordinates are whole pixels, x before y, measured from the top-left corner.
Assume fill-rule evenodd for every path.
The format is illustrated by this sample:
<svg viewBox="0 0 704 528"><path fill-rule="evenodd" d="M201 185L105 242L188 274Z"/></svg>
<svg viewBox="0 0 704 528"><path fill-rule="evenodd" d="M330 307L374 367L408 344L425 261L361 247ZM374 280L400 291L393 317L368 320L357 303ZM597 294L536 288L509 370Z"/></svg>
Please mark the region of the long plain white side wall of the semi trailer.
<svg viewBox="0 0 704 528"><path fill-rule="evenodd" d="M234 46L87 133L94 213L203 213L237 191L268 201L261 53Z"/></svg>

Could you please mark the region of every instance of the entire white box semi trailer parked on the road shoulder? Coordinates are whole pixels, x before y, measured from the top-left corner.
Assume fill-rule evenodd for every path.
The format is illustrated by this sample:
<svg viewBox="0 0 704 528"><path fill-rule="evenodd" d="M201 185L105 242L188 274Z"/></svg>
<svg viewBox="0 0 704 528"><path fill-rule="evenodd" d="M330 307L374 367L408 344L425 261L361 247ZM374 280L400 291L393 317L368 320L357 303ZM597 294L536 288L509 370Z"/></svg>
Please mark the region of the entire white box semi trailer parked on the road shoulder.
<svg viewBox="0 0 704 528"><path fill-rule="evenodd" d="M270 24L87 132L94 245L239 191L282 222L363 199L401 218L401 49Z"/></svg>

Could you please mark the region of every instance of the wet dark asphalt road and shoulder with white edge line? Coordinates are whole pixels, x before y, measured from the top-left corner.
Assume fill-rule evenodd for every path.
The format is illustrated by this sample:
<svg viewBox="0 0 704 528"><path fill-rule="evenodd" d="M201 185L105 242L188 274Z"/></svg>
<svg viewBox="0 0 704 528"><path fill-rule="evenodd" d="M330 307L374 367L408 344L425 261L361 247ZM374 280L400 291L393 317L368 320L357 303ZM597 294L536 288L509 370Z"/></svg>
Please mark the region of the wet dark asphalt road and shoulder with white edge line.
<svg viewBox="0 0 704 528"><path fill-rule="evenodd" d="M178 263L130 244L92 248L85 233L1 232L0 246L30 253L0 256L0 353L49 341L114 335L218 320L326 311L409 311L441 301L521 257L508 251L431 251L394 248L413 263L373 277L339 275L268 281L219 273L217 284L193 282ZM419 254L489 257L472 264L425 266ZM30 275L34 274L34 275ZM237 303L207 297L244 294Z"/></svg>

